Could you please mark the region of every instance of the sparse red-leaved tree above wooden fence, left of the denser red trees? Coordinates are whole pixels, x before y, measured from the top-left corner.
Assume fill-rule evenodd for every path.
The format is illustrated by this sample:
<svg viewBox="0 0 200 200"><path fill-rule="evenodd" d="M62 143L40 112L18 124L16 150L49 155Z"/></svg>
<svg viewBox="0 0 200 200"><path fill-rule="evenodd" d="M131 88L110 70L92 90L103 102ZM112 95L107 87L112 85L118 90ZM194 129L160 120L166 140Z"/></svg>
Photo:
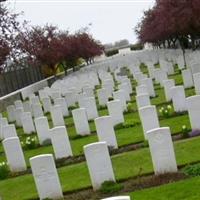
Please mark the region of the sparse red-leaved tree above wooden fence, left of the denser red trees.
<svg viewBox="0 0 200 200"><path fill-rule="evenodd" d="M18 36L19 46L32 62L47 66L53 73L62 58L62 45L55 26L29 27Z"/></svg>

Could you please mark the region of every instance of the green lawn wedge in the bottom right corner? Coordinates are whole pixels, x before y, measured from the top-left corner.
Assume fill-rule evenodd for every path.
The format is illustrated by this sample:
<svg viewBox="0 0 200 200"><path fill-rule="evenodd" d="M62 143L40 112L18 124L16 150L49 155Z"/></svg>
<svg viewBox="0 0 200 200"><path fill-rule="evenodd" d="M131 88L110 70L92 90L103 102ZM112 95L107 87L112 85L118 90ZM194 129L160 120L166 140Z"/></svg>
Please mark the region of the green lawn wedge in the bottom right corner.
<svg viewBox="0 0 200 200"><path fill-rule="evenodd" d="M199 200L200 177L170 183L130 194L132 200Z"/></svg>

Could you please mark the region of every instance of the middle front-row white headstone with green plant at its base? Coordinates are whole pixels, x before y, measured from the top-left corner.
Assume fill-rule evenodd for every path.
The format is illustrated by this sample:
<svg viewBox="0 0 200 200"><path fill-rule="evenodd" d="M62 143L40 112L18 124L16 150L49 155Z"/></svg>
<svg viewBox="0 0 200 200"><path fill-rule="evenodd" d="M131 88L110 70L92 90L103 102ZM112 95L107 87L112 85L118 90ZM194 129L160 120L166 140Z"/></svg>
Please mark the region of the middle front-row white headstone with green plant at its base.
<svg viewBox="0 0 200 200"><path fill-rule="evenodd" d="M105 181L115 182L115 176L106 142L97 142L86 145L84 146L84 153L94 190L99 189L101 184Z"/></svg>

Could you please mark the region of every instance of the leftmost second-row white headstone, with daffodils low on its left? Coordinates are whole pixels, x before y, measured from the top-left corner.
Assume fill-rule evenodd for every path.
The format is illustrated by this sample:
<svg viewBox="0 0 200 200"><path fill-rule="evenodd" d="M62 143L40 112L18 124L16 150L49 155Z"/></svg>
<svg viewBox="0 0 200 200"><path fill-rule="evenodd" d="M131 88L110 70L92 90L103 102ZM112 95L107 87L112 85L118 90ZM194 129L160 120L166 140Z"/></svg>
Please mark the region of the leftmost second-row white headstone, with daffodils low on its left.
<svg viewBox="0 0 200 200"><path fill-rule="evenodd" d="M2 142L11 172L26 170L26 162L18 137L10 137Z"/></svg>

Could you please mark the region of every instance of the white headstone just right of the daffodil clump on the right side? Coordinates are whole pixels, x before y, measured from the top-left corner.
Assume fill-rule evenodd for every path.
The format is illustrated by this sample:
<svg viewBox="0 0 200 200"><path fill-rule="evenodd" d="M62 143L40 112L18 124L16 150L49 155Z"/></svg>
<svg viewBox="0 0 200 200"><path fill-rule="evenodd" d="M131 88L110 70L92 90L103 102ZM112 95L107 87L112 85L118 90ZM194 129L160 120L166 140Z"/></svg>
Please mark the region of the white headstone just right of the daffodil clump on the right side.
<svg viewBox="0 0 200 200"><path fill-rule="evenodd" d="M185 90L183 86L175 86L171 88L172 102L175 112L184 112L186 108Z"/></svg>

